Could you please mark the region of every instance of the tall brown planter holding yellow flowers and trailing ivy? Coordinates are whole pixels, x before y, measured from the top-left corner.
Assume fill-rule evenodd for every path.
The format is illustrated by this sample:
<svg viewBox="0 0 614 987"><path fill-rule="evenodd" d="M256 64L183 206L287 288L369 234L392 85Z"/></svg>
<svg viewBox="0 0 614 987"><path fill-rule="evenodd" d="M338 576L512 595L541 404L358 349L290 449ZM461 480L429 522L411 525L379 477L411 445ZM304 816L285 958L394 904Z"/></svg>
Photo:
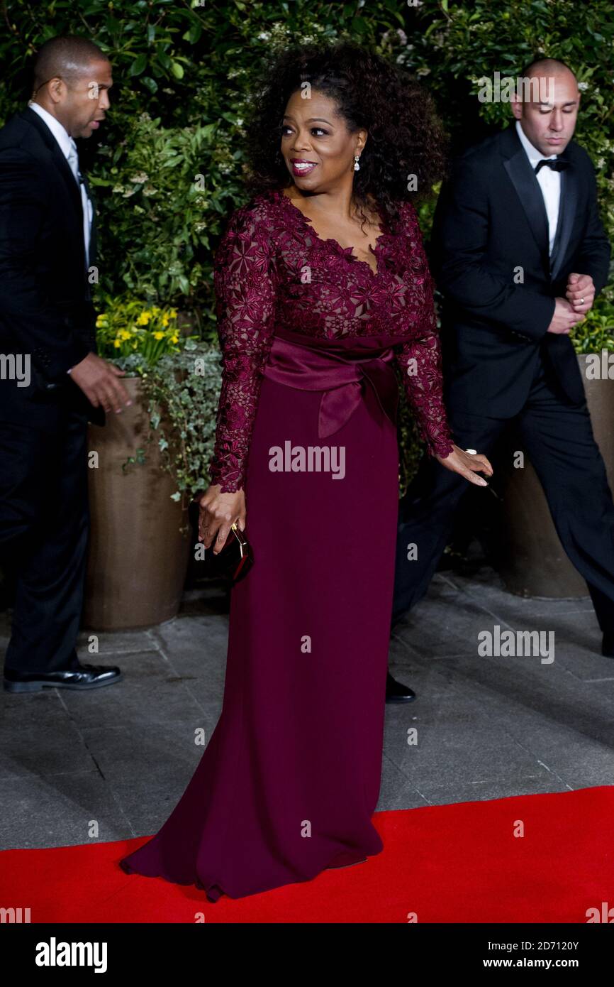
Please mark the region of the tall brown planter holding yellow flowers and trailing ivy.
<svg viewBox="0 0 614 987"><path fill-rule="evenodd" d="M89 450L99 456L89 470L92 517L83 623L97 631L151 627L176 616L188 563L189 539L176 489L161 466L158 443L146 441L149 415L138 377L124 377L133 404L110 413L103 427L90 424ZM145 449L146 461L122 470Z"/></svg>

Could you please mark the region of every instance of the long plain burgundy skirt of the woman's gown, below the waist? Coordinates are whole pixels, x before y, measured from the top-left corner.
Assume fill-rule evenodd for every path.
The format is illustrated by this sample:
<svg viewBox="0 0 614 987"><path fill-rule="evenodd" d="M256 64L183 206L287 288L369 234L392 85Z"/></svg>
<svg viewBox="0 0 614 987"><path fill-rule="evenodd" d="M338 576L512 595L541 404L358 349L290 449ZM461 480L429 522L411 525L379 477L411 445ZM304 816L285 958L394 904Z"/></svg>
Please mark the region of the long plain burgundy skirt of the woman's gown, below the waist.
<svg viewBox="0 0 614 987"><path fill-rule="evenodd" d="M126 873L194 883L210 901L309 880L382 850L372 816L394 579L396 427L363 377L334 392L337 405L349 392L355 407L322 439L323 391L298 384L261 383L245 482L255 562L231 593L220 720L167 822L120 861ZM345 476L273 472L270 450L289 440L344 447Z"/></svg>

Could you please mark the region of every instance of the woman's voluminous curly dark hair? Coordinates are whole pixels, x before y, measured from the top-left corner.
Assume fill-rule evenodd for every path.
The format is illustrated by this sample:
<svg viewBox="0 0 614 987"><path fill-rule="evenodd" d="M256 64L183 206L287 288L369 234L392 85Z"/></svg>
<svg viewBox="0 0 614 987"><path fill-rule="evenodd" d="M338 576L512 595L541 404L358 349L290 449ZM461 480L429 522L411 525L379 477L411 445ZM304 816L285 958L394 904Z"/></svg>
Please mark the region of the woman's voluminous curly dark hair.
<svg viewBox="0 0 614 987"><path fill-rule="evenodd" d="M361 216L372 197L393 223L399 202L432 194L446 174L448 144L431 96L400 66L351 40L293 45L264 62L245 123L249 194L292 185L280 151L282 119L304 82L335 101L350 132L369 133L353 185ZM409 175L415 191L407 189Z"/></svg>

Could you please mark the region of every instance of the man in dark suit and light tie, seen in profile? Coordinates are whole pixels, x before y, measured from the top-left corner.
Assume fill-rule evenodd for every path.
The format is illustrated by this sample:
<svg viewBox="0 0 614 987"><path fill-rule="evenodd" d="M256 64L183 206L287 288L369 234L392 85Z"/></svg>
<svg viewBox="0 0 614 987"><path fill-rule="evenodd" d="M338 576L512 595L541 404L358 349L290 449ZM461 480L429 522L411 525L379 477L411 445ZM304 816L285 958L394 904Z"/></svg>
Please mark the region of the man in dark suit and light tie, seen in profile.
<svg viewBox="0 0 614 987"><path fill-rule="evenodd" d="M29 107L0 129L0 555L14 583L4 688L92 689L119 668L75 643L89 534L87 423L130 401L96 353L94 210L75 137L109 106L111 66L86 38L51 38Z"/></svg>

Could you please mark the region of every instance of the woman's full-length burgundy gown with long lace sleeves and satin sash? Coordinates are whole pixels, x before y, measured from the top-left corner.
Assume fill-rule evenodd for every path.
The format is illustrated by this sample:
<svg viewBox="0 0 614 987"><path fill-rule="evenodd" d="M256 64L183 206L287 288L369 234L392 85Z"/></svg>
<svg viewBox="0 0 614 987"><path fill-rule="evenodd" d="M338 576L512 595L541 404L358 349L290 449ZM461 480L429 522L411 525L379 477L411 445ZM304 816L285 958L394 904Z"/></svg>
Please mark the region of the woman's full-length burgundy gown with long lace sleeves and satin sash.
<svg viewBox="0 0 614 987"><path fill-rule="evenodd" d="M216 901L382 849L392 360L430 450L452 447L433 282L416 211L400 212L394 230L382 222L376 272L320 239L281 190L239 208L218 249L212 483L244 488L255 563L231 594L220 720L167 822L120 862L127 873Z"/></svg>

